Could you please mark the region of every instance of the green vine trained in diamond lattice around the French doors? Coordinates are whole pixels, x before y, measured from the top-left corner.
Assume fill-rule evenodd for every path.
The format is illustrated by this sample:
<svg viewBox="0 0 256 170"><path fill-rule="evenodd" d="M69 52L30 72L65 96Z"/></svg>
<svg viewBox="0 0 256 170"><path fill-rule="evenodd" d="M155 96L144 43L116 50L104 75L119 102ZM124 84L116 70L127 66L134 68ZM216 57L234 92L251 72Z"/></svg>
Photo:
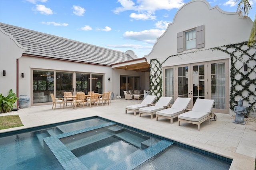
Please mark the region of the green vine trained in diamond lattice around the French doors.
<svg viewBox="0 0 256 170"><path fill-rule="evenodd" d="M248 113L250 111L256 111L256 59L255 51L256 45L247 46L247 42L224 45L221 47L214 47L210 49L204 49L201 51L214 51L220 50L224 53L230 55L231 68L230 68L230 78L231 78L231 88L230 88L230 109L234 109L237 105L237 101L242 98L242 100L248 102L250 105L248 107ZM189 53L194 53L192 51ZM182 53L184 55L185 53ZM188 53L186 53L188 54ZM165 63L171 57L177 55L172 55L167 57L163 63ZM150 61L150 92L152 95L156 95L158 98L162 96L162 64L157 59L152 59ZM248 72L244 74L243 65L245 63L254 63L248 67ZM154 76L156 75L156 77ZM239 90L242 89L242 90ZM239 98L239 99L238 99Z"/></svg>

